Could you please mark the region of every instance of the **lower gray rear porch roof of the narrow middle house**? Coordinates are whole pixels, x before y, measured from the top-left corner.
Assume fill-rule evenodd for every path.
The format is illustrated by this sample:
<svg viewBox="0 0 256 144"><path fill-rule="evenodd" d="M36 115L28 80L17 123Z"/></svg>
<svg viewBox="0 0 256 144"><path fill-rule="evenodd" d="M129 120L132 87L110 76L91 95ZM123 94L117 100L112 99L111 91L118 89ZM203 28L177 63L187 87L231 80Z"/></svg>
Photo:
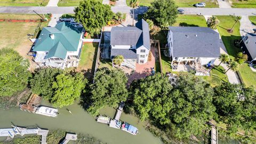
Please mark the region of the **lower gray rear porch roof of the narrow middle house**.
<svg viewBox="0 0 256 144"><path fill-rule="evenodd" d="M111 59L116 55L123 55L124 59L137 59L135 49L111 49Z"/></svg>

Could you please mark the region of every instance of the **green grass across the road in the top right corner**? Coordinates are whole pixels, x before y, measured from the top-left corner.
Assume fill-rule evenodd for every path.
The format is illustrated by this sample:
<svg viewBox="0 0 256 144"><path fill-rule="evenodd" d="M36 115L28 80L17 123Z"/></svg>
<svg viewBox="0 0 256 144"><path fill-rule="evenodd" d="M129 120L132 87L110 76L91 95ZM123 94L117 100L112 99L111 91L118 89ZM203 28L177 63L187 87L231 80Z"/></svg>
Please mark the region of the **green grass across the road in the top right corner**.
<svg viewBox="0 0 256 144"><path fill-rule="evenodd" d="M235 8L255 8L256 7L256 0L229 0L231 1L231 6Z"/></svg>

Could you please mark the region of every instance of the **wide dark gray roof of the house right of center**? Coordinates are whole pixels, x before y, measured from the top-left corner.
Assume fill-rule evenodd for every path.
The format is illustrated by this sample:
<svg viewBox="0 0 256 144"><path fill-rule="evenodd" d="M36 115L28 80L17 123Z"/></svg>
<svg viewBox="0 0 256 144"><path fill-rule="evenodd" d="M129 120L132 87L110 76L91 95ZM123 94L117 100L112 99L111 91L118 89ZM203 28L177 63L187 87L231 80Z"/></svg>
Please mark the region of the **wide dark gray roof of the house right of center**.
<svg viewBox="0 0 256 144"><path fill-rule="evenodd" d="M173 33L173 57L218 58L219 34L207 27L169 27Z"/></svg>

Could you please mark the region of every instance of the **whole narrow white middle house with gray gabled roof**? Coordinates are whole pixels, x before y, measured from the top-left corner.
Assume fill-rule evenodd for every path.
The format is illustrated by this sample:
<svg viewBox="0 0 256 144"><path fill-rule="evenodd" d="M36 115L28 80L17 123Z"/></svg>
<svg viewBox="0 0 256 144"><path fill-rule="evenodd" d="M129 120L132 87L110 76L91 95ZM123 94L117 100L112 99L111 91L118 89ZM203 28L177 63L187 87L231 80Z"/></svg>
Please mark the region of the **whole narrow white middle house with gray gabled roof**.
<svg viewBox="0 0 256 144"><path fill-rule="evenodd" d="M113 27L110 34L111 59L123 55L121 66L135 69L136 63L148 61L150 51L149 26L140 20L135 27Z"/></svg>

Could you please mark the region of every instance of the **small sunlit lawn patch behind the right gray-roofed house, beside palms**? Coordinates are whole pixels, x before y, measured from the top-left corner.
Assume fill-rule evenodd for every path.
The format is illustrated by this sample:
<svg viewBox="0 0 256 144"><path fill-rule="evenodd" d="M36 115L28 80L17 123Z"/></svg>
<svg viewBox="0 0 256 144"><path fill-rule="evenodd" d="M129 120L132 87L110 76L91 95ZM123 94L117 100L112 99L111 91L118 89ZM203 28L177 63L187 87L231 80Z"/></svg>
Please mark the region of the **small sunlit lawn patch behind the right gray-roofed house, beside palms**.
<svg viewBox="0 0 256 144"><path fill-rule="evenodd" d="M203 78L213 87L219 85L221 82L228 82L225 69L221 66L214 66L211 70L211 76L203 76Z"/></svg>

